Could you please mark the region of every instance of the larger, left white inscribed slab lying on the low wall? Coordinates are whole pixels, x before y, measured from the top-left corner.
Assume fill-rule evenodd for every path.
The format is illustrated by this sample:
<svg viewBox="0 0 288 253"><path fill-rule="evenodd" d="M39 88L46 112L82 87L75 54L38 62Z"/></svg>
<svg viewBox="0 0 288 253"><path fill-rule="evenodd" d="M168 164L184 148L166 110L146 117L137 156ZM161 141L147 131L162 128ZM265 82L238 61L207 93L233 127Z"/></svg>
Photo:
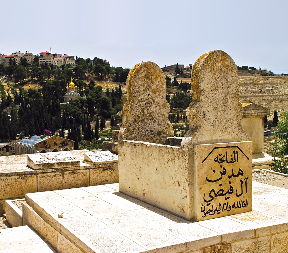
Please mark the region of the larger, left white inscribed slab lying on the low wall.
<svg viewBox="0 0 288 253"><path fill-rule="evenodd" d="M34 170L80 166L80 160L71 154L40 153L27 155L27 166Z"/></svg>

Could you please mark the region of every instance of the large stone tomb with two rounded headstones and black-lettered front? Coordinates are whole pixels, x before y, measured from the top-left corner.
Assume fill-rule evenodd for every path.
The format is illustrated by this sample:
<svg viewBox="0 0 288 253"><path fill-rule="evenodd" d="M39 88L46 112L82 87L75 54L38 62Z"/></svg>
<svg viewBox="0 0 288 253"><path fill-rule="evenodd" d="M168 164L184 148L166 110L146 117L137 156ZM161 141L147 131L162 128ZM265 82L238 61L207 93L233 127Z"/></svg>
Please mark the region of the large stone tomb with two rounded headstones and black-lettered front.
<svg viewBox="0 0 288 253"><path fill-rule="evenodd" d="M233 59L215 50L195 62L191 78L192 103L187 108L189 130L181 147L164 145L164 137L171 137L169 131L161 138L156 134L147 134L145 138L141 138L143 134L137 135L141 131L151 132L152 125L157 133L154 126L168 122L168 111L166 113L164 107L158 106L163 115L161 119L151 118L159 113L152 106L143 105L144 110L131 107L138 100L147 101L151 97L147 91L154 92L153 98L165 98L162 94L166 85L164 76L159 79L162 88L157 94L149 90L155 75L151 72L157 71L156 66L141 68L141 65L147 63L136 65L127 78L126 121L118 139L120 192L187 220L207 220L250 211L252 142L248 142L241 127L243 108ZM133 79L134 76L137 78ZM130 98L133 91L138 92L136 98Z"/></svg>

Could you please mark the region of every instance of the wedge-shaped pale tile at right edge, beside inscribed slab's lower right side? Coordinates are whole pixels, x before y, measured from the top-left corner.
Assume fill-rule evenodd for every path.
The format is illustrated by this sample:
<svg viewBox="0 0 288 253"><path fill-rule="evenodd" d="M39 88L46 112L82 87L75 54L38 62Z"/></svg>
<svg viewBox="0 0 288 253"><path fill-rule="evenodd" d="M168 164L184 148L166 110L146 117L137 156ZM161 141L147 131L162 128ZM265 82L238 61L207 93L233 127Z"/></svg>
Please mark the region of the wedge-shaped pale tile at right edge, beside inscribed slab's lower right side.
<svg viewBox="0 0 288 253"><path fill-rule="evenodd" d="M253 198L264 200L272 204L276 204L283 207L288 207L288 190L278 190L273 192L266 192L259 195L253 195Z"/></svg>

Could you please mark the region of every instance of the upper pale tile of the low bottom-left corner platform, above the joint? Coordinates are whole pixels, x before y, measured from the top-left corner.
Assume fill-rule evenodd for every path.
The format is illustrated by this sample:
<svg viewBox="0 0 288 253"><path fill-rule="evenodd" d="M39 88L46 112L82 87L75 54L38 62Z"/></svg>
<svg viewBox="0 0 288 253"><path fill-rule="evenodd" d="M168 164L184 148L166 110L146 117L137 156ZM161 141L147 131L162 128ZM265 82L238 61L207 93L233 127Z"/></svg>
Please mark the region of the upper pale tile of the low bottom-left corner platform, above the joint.
<svg viewBox="0 0 288 253"><path fill-rule="evenodd" d="M0 250L43 243L43 240L28 226L0 230Z"/></svg>

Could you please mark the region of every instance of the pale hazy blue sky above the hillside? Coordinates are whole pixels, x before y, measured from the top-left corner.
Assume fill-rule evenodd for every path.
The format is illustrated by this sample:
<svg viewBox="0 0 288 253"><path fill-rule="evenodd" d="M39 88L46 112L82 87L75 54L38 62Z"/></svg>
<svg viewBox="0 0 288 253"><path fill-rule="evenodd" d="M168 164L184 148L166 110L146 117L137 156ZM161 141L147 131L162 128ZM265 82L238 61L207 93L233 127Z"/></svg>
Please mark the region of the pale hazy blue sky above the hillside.
<svg viewBox="0 0 288 253"><path fill-rule="evenodd" d="M0 53L43 51L132 68L194 64L212 50L288 74L288 1L0 0Z"/></svg>

